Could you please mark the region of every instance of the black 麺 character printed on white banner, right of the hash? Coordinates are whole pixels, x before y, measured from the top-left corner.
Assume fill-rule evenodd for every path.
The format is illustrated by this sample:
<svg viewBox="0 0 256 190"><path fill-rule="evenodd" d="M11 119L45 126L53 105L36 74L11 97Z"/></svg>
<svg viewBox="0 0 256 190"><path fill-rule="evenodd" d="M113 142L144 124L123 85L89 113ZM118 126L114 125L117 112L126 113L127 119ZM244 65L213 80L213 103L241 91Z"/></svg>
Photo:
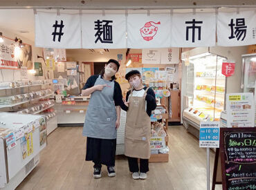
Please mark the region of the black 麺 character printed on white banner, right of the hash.
<svg viewBox="0 0 256 190"><path fill-rule="evenodd" d="M113 44L112 26L109 25L109 23L113 23L113 21L97 20L94 23L95 23L94 30L97 30L97 32L95 33L95 37L97 37L97 39L95 40L95 44L99 40L101 43ZM102 23L104 24L102 25ZM102 39L102 35L103 35L103 39Z"/></svg>

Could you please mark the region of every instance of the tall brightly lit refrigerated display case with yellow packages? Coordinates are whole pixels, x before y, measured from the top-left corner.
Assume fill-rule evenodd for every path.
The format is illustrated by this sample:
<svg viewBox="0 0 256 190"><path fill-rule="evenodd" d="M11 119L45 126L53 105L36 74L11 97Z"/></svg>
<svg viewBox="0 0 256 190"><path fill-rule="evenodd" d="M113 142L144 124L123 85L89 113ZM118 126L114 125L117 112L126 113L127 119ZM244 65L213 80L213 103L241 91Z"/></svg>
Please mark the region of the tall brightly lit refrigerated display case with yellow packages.
<svg viewBox="0 0 256 190"><path fill-rule="evenodd" d="M225 104L226 77L221 74L224 57L203 53L190 57L187 66L186 97L190 104L183 112L197 125L201 121L219 121Z"/></svg>

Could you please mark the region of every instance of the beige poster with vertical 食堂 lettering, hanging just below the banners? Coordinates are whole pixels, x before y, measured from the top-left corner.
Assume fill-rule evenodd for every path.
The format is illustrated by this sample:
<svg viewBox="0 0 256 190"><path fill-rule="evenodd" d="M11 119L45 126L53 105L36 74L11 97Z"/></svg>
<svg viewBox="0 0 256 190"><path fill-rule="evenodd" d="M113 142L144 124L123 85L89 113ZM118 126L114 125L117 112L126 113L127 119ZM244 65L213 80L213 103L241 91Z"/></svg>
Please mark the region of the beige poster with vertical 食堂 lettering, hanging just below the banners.
<svg viewBox="0 0 256 190"><path fill-rule="evenodd" d="M161 64L179 64L179 48L161 48Z"/></svg>

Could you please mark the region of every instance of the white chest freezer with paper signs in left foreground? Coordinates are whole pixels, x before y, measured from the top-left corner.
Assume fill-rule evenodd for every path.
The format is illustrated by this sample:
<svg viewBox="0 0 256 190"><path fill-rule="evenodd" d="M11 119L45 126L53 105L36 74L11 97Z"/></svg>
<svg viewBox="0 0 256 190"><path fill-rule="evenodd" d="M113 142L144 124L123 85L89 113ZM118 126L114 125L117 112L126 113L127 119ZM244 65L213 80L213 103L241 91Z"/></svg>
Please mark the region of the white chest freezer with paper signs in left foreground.
<svg viewBox="0 0 256 190"><path fill-rule="evenodd" d="M42 115L0 113L0 121L0 189L15 189L39 163L46 120Z"/></svg>

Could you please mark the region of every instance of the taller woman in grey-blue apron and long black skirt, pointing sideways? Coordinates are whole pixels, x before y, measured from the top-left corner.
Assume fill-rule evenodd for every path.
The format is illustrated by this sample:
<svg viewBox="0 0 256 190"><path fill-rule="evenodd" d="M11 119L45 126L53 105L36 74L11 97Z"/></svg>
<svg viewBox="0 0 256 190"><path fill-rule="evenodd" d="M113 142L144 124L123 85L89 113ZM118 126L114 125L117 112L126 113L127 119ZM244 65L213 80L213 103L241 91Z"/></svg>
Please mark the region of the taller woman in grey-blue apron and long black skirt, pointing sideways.
<svg viewBox="0 0 256 190"><path fill-rule="evenodd" d="M116 175L116 130L120 124L120 106L122 91L115 74L120 64L109 59L100 75L93 75L87 80L82 95L91 99L86 111L83 135L86 140L86 160L94 162L94 178L101 177L102 164L107 165L109 177Z"/></svg>

